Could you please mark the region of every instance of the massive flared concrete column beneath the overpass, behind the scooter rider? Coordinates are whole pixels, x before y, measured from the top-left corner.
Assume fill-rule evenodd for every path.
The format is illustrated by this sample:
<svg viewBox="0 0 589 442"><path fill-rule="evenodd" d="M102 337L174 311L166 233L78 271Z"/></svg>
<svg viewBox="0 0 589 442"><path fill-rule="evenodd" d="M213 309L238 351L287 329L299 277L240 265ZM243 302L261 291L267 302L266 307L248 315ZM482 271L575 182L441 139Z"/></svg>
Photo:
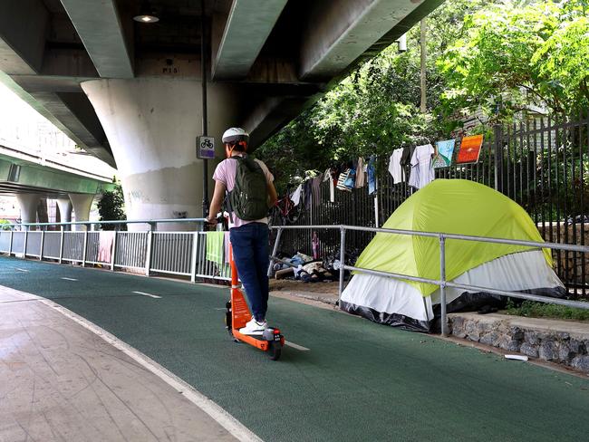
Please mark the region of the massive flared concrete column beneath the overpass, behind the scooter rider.
<svg viewBox="0 0 589 442"><path fill-rule="evenodd" d="M82 82L82 89L109 139L127 218L202 216L202 161L196 156L196 139L202 134L201 82L180 77L104 79ZM238 96L233 86L208 86L208 135L215 137L217 147L217 161L208 164L209 178L224 156L223 131L238 122ZM172 223L158 229L194 227Z"/></svg>

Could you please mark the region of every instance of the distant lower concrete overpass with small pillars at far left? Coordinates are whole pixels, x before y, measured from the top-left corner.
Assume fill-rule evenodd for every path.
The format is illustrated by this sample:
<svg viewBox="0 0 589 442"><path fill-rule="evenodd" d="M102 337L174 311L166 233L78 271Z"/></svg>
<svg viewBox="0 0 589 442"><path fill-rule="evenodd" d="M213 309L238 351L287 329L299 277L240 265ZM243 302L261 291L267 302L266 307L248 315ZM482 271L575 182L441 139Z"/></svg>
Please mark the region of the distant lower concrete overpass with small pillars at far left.
<svg viewBox="0 0 589 442"><path fill-rule="evenodd" d="M0 195L15 196L23 223L37 221L42 197L57 200L61 220L87 221L92 200L111 190L111 178L0 146Z"/></svg>

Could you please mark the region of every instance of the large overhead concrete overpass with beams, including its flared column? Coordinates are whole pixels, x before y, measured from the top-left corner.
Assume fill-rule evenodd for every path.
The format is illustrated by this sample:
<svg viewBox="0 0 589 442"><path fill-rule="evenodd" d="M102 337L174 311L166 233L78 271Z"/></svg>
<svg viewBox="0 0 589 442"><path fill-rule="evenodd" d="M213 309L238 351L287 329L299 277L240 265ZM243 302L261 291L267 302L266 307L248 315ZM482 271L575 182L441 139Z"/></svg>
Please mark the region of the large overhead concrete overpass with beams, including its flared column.
<svg viewBox="0 0 589 442"><path fill-rule="evenodd" d="M116 163L130 218L200 216L198 135L256 147L442 1L6 0L0 79Z"/></svg>

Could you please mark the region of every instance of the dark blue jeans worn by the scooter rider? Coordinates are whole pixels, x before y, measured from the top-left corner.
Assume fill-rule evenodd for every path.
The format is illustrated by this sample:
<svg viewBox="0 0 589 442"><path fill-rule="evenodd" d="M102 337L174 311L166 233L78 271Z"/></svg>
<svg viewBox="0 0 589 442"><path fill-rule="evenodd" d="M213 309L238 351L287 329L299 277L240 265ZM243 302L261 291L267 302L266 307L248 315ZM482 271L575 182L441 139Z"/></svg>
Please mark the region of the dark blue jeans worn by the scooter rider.
<svg viewBox="0 0 589 442"><path fill-rule="evenodd" d="M256 321L266 319L268 310L268 226L249 223L230 231L237 274L246 289L249 307Z"/></svg>

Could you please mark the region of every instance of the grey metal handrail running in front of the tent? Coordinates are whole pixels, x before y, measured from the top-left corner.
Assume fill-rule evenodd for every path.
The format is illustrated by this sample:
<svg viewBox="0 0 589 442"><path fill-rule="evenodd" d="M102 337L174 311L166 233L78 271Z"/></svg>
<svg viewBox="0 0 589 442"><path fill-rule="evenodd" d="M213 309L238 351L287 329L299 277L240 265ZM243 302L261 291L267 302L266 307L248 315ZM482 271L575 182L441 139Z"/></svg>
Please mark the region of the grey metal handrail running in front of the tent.
<svg viewBox="0 0 589 442"><path fill-rule="evenodd" d="M271 226L273 230L277 231L274 250L272 255L270 256L270 265L268 266L268 274L270 274L273 264L275 263L275 255L278 250L278 243L280 241L280 237L284 230L305 230L305 229L314 229L314 230L340 230L341 232L341 240L340 240L340 264L337 266L336 270L340 270L340 282L339 282L339 290L338 290L338 305L342 299L343 293L343 270L349 270L352 272L358 273L365 273L365 274L375 274L378 276L384 276L388 278L394 279L404 279L414 282L420 283L431 283L439 286L439 303L440 303L440 311L441 311L441 332L442 335L446 336L448 334L447 331L447 313L446 313L446 287L458 288L463 290L470 290L477 292L486 292L486 293L493 293L493 294L500 294L505 296L511 296L514 298L526 299L530 301L537 301L540 303L554 303L559 305L565 305L568 307L575 307L581 308L585 310L589 310L589 303L584 302L577 302L577 301L570 301L565 299L558 299L558 298L551 298L548 296L541 296L536 295L534 293L521 293L521 292L509 292L504 290L497 290L492 289L490 287L479 287L477 285L468 285L468 284L461 284L461 283L452 283L446 280L446 240L460 240L460 241L473 241L473 242L482 242L482 243L493 243L493 244L507 244L507 245L524 245L530 248L547 248L547 249L556 249L556 250L567 250L571 252L581 252L581 253L589 253L589 246L587 245L568 245L568 244L558 244L558 243L540 243L537 241L524 241L524 240L517 240L517 239L508 239L508 238L494 238L494 237L486 237L486 236L475 236L475 235L458 235L458 234L447 234L443 232L419 232L414 230L401 230L401 229L391 229L391 228L382 228L382 227L364 227L364 226ZM381 270L375 269L366 269L362 267L355 267L352 265L345 264L345 233L348 230L352 231L362 231L362 232L374 232L374 233L383 233L383 234L393 234L393 235L412 235L412 236L426 236L432 238L438 238L439 240L439 280L428 279L428 278L421 278L418 276L412 276L409 274L394 274L391 272L384 272Z"/></svg>

